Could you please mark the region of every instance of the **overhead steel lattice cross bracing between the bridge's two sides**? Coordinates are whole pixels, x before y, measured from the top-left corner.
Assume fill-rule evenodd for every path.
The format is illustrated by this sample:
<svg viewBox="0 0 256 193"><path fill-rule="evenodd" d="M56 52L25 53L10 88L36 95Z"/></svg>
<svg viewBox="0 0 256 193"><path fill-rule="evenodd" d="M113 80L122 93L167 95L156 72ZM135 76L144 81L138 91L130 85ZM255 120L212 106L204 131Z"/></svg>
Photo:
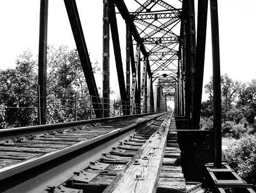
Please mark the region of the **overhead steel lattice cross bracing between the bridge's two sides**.
<svg viewBox="0 0 256 193"><path fill-rule="evenodd" d="M124 2L147 51L153 80L177 76L181 1Z"/></svg>

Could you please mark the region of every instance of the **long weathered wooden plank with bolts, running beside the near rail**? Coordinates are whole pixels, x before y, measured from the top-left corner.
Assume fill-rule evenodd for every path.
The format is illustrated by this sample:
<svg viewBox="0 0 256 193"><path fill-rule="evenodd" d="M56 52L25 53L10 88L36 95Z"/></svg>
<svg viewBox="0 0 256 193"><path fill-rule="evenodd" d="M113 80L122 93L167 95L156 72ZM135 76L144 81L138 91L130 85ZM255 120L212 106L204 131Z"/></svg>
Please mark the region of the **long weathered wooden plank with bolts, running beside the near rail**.
<svg viewBox="0 0 256 193"><path fill-rule="evenodd" d="M167 125L166 125L167 124ZM156 192L169 131L170 118L140 148L137 154L103 192ZM152 142L149 142L152 141ZM149 159L139 159L148 156ZM133 164L139 159L140 164ZM142 175L143 180L136 180ZM122 182L126 183L122 183Z"/></svg>

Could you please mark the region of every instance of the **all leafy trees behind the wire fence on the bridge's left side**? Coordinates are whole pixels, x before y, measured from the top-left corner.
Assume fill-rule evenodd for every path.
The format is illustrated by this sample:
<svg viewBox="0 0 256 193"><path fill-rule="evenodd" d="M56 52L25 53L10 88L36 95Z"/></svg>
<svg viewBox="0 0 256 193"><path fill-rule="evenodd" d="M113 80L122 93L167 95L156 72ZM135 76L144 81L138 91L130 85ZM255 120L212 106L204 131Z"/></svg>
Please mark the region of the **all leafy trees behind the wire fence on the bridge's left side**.
<svg viewBox="0 0 256 193"><path fill-rule="evenodd" d="M75 49L48 46L47 124L90 117L90 96ZM97 63L93 71L99 71ZM76 98L77 96L77 98ZM15 69L0 70L0 128L38 125L37 60L29 50L17 57Z"/></svg>

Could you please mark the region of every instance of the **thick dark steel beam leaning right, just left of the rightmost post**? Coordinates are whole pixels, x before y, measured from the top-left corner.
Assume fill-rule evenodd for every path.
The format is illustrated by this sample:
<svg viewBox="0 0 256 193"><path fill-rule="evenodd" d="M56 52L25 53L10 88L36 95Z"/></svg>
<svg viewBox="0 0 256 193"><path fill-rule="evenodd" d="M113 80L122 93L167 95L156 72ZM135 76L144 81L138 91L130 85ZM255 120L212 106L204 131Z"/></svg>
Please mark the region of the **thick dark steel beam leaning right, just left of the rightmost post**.
<svg viewBox="0 0 256 193"><path fill-rule="evenodd" d="M205 61L205 42L207 26L208 0L198 1L198 27L196 38L196 57L195 57L195 84L192 113L192 129L199 129L200 113L203 92L204 79L204 61Z"/></svg>

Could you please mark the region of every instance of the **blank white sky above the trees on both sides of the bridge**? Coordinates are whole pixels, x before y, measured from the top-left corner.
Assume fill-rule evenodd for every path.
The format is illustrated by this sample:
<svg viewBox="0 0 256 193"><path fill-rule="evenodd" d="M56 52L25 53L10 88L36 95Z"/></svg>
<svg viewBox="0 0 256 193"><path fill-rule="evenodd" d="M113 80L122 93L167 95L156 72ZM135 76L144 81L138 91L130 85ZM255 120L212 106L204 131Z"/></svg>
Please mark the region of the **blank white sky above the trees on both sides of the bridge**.
<svg viewBox="0 0 256 193"><path fill-rule="evenodd" d="M98 61L102 67L102 0L90 3L76 0L76 4L91 62ZM251 81L256 78L256 1L219 0L218 9L221 74L227 74L233 80ZM16 57L24 50L29 49L38 55L39 10L40 0L0 1L0 69L14 68ZM125 23L122 21L118 25L121 52L125 55ZM49 0L48 44L68 45L70 49L75 47L63 0ZM204 84L212 76L209 20L205 57ZM113 53L110 53L110 66L110 85L118 92ZM102 87L102 75L98 76L96 84ZM203 100L206 100L204 96Z"/></svg>

